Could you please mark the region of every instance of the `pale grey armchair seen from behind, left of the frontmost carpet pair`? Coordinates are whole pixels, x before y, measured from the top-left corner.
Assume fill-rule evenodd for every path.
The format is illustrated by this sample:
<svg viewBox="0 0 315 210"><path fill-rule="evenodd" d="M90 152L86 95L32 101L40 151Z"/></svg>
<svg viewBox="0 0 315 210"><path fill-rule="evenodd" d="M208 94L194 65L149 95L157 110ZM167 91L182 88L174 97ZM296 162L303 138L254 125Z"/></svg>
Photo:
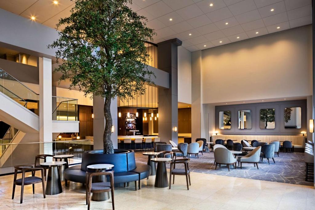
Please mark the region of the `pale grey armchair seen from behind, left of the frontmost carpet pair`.
<svg viewBox="0 0 315 210"><path fill-rule="evenodd" d="M233 154L230 150L226 149L226 148L216 148L215 152L215 170L216 167L218 166L218 164L221 167L222 165L226 165L227 168L230 171L230 165L234 165L235 169L236 169L236 159L233 157Z"/></svg>

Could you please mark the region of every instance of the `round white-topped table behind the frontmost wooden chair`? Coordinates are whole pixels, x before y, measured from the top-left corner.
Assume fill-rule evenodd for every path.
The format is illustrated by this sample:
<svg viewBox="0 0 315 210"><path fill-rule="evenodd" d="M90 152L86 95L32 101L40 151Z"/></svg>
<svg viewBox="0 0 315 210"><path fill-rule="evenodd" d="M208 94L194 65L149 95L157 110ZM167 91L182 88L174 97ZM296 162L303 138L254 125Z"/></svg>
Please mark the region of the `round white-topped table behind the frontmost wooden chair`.
<svg viewBox="0 0 315 210"><path fill-rule="evenodd" d="M112 169L114 165L112 164L94 164L89 165L87 168L89 170L95 170L95 172L106 172L106 170ZM106 176L96 176L94 182L106 182ZM106 201L109 199L109 192L99 192L92 194L93 201Z"/></svg>

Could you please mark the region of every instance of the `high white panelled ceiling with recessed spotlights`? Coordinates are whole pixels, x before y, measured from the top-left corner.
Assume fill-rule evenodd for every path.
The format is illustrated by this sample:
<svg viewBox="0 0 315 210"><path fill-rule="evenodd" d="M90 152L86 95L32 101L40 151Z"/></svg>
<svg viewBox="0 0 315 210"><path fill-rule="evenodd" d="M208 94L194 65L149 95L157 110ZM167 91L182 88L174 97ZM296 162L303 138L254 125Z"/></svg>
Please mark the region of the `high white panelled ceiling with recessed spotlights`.
<svg viewBox="0 0 315 210"><path fill-rule="evenodd" d="M52 28L72 7L70 0L0 1L0 8ZM312 23L311 0L133 0L130 7L146 16L155 43L178 38L190 51Z"/></svg>

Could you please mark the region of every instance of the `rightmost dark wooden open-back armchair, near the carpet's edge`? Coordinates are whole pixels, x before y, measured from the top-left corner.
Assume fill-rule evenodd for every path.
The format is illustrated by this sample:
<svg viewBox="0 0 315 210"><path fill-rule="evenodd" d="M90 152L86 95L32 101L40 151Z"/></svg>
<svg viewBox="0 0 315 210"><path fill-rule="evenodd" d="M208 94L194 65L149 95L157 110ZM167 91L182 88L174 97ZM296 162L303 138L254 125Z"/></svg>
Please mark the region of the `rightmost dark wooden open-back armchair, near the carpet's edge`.
<svg viewBox="0 0 315 210"><path fill-rule="evenodd" d="M185 158L185 159L177 159L177 160L174 160L174 162L170 163L169 189L171 189L172 174L173 174L173 184L174 184L174 181L175 181L175 175L185 175L186 176L186 183L187 183L187 190L189 190L189 185L191 185L191 183L190 183L190 171L189 171L189 166L188 166L188 162L189 161L190 161L189 158ZM175 168L175 164L176 163L177 164L178 163L183 163L185 165L185 169ZM188 179L189 179L189 185L188 185Z"/></svg>

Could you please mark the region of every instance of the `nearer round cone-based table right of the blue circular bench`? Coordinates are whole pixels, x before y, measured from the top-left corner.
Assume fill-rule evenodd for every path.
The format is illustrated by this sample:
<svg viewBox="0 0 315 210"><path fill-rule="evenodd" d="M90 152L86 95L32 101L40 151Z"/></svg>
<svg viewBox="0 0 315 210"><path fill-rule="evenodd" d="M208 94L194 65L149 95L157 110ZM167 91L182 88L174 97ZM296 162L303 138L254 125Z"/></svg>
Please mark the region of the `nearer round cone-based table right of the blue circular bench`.
<svg viewBox="0 0 315 210"><path fill-rule="evenodd" d="M169 181L167 179L167 172L166 172L166 162L171 162L172 158L165 158L165 157L157 157L152 158L151 161L157 162L157 173L155 177L155 187L168 187Z"/></svg>

